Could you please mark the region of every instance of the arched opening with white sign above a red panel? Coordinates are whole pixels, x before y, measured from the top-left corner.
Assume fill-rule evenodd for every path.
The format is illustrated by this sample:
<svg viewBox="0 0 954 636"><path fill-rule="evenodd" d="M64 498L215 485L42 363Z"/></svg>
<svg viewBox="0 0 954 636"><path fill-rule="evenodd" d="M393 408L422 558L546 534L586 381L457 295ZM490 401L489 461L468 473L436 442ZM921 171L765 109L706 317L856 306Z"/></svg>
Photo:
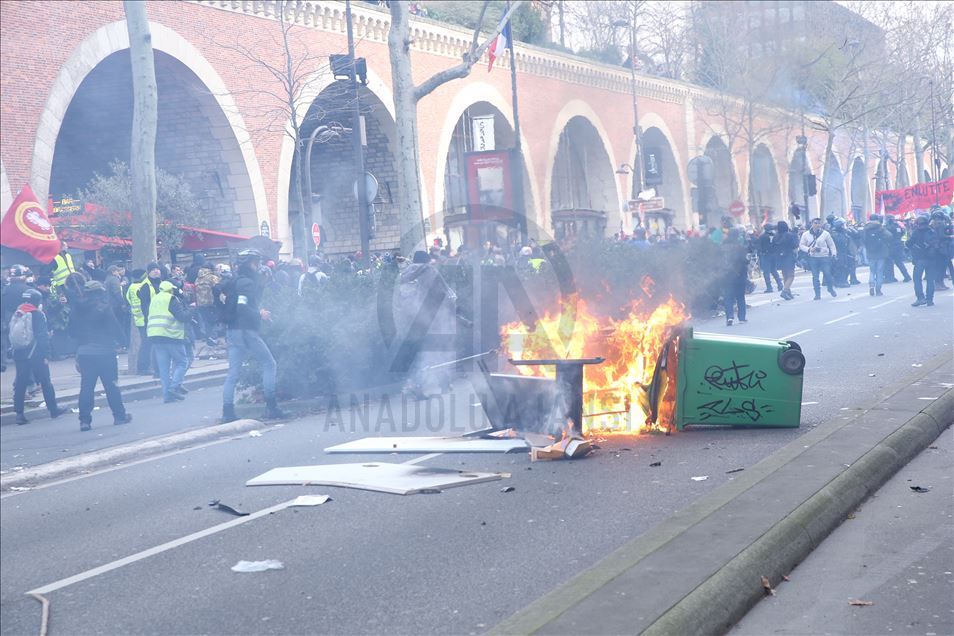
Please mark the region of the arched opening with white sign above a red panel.
<svg viewBox="0 0 954 636"><path fill-rule="evenodd" d="M450 248L463 244L474 248L485 241L504 246L519 237L523 220L513 183L515 157L509 152L514 146L513 127L496 106L476 102L464 109L447 148L444 200L437 219ZM526 229L536 237L536 208L526 165L522 173ZM477 194L476 203L471 201L471 189Z"/></svg>

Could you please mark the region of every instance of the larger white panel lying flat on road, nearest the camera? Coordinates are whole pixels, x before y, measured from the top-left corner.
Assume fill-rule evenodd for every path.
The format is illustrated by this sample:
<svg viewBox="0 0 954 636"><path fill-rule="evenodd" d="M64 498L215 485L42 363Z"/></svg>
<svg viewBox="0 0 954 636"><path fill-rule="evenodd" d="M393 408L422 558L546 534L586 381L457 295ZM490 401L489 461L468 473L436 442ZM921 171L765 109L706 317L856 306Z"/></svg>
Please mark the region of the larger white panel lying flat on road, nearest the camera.
<svg viewBox="0 0 954 636"><path fill-rule="evenodd" d="M246 486L339 486L395 495L495 481L500 473L473 473L418 464L326 464L273 468L245 482Z"/></svg>

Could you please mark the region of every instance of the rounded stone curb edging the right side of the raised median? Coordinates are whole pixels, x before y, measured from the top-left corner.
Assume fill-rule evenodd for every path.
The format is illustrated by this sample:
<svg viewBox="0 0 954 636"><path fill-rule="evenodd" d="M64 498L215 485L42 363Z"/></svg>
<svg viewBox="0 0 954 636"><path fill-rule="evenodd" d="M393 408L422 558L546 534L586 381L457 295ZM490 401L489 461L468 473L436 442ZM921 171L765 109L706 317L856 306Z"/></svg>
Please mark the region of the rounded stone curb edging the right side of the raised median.
<svg viewBox="0 0 954 636"><path fill-rule="evenodd" d="M909 419L677 602L643 634L723 634L859 504L954 424L954 389Z"/></svg>

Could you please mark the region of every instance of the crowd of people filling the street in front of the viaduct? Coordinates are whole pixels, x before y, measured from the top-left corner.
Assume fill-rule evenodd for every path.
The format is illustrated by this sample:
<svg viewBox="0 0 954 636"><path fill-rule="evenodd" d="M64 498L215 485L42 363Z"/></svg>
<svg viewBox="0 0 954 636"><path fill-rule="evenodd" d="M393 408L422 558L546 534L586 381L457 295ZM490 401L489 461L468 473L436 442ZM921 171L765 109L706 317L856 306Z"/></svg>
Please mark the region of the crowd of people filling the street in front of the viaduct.
<svg viewBox="0 0 954 636"><path fill-rule="evenodd" d="M727 218L705 234L668 228L656 235L640 227L614 239L637 250L699 241L718 246L723 284L717 296L727 325L746 322L745 297L755 291L758 278L764 281L764 293L777 290L781 298L792 300L799 267L811 272L815 300L822 298L822 287L835 297L838 288L860 284L856 271L867 266L872 296L883 295L882 286L897 282L899 275L912 282L914 307L933 306L935 290L947 289L946 278L954 276L952 223L942 209L903 221L872 215L864 224L829 215L796 227L778 221L751 228ZM277 404L276 362L260 335L263 322L271 319L275 299L305 296L332 277L366 276L385 268L399 269L403 283L419 276L425 265L467 262L533 273L546 261L545 251L533 239L526 244L488 242L479 250L464 246L450 250L438 240L413 259L396 251L372 254L367 263L360 253L338 258L313 254L306 264L299 259L275 262L246 250L232 263L210 263L196 254L185 268L154 262L129 270L123 262L103 267L92 260L77 267L63 243L54 261L40 271L14 265L2 273L0 363L5 369L9 357L16 366L14 406L17 423L25 424L28 393L42 391L51 417L64 412L57 404L48 363L75 356L81 376L80 428L85 431L92 424L97 382L104 387L114 424L131 420L118 387L118 351L137 350L137 373L159 378L163 401L171 403L187 397L183 380L196 344L225 346L229 372L223 387L223 420L236 419L236 385L249 358L262 371L267 417L279 418L283 413Z"/></svg>

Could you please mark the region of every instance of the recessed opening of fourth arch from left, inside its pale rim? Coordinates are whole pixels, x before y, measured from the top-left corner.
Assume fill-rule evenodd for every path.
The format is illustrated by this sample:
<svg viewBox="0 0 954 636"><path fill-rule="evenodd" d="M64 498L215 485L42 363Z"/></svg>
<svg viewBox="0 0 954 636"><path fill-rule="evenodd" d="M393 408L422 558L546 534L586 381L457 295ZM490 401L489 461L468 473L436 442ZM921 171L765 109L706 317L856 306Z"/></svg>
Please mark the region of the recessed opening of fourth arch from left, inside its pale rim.
<svg viewBox="0 0 954 636"><path fill-rule="evenodd" d="M554 234L603 236L619 231L615 168L596 128L576 116L560 133L550 182Z"/></svg>

